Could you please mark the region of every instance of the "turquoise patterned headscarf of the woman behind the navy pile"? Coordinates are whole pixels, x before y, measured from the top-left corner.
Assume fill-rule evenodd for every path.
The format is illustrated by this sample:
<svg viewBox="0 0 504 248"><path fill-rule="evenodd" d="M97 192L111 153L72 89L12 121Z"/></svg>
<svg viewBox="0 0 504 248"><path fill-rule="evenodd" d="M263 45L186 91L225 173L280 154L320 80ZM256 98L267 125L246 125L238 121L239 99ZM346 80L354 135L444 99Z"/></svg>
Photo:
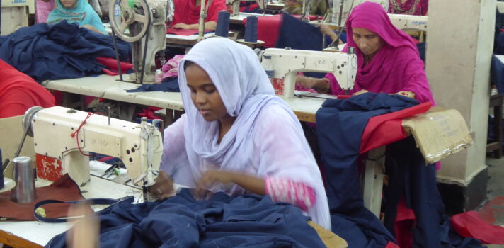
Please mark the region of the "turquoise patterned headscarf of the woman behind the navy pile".
<svg viewBox="0 0 504 248"><path fill-rule="evenodd" d="M56 8L47 16L47 23L55 24L59 21L66 20L68 23L78 23L80 27L84 25L93 26L103 35L107 34L107 30L101 22L98 13L91 7L86 0L76 0L74 9L67 9L61 3L61 0L55 0Z"/></svg>

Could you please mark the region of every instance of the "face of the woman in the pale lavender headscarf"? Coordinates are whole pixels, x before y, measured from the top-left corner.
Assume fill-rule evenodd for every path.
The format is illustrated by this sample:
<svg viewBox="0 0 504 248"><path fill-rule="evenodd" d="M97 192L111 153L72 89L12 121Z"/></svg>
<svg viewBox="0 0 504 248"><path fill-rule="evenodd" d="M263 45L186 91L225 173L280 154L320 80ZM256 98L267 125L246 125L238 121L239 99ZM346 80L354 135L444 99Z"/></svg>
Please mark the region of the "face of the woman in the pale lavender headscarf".
<svg viewBox="0 0 504 248"><path fill-rule="evenodd" d="M190 98L206 121L221 120L228 116L219 91L205 70L197 64L191 64L185 69L185 77L190 89Z"/></svg>

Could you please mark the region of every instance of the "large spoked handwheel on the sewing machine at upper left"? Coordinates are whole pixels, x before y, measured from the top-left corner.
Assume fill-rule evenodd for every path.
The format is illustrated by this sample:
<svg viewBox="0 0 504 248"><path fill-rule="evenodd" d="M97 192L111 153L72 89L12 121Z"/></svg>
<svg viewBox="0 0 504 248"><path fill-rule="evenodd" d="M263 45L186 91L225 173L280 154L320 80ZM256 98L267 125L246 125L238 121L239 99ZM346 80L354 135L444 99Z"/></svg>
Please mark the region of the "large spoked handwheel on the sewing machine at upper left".
<svg viewBox="0 0 504 248"><path fill-rule="evenodd" d="M121 23L117 23L115 21L115 6L118 1L120 2L119 6ZM130 8L127 0L114 0L111 1L109 5L108 18L110 19L110 28L114 30L115 35L118 35L121 40L125 40L130 43L140 40L144 37L145 32L147 32L147 28L149 26L149 20L152 19L150 16L151 11L149 5L147 4L147 1L137 0L137 2L140 4L140 7L142 7L144 15L136 13L134 9ZM131 35L130 32L126 32L126 28L133 23L143 23L142 30L140 30L137 35Z"/></svg>

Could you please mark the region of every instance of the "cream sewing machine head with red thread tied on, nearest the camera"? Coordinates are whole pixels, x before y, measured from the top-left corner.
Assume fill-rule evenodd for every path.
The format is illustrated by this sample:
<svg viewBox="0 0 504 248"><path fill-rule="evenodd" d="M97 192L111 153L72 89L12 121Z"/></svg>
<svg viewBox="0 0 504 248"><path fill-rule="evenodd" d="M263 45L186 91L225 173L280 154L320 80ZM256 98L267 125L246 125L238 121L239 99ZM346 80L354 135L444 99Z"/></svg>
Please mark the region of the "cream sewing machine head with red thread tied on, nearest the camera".
<svg viewBox="0 0 504 248"><path fill-rule="evenodd" d="M83 154L95 152L121 159L137 186L156 181L163 140L147 119L137 124L59 106L33 107L25 113L23 128L33 135L37 175L42 179L56 181L68 173L76 184L86 184L89 157Z"/></svg>

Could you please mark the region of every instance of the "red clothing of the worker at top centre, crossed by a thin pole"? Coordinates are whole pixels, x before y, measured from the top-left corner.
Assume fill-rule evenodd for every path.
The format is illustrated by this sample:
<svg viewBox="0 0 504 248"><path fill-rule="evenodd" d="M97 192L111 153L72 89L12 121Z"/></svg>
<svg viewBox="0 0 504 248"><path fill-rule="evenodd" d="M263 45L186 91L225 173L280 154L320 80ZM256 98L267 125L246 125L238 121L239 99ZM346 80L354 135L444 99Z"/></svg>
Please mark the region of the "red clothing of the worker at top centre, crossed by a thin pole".
<svg viewBox="0 0 504 248"><path fill-rule="evenodd" d="M201 7L199 5L195 6L195 0L175 0L173 4L175 4L175 13L173 14L171 26L177 23L196 24L200 21ZM205 21L217 22L219 11L227 11L225 0L212 1L212 4L208 7Z"/></svg>

